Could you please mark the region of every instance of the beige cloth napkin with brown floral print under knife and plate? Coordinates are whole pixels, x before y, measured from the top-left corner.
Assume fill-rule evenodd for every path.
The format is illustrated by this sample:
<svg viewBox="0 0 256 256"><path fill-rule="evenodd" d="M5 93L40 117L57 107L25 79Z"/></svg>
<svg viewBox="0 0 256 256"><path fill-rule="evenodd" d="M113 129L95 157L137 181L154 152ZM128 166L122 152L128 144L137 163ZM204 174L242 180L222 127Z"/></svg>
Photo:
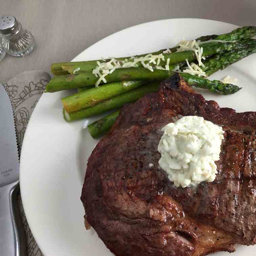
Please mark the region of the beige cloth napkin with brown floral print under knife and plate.
<svg viewBox="0 0 256 256"><path fill-rule="evenodd" d="M3 84L13 105L19 153L28 120L49 81L50 75L47 72L36 70L23 72ZM43 256L28 226L20 193L18 194L18 205L26 235L27 255Z"/></svg>

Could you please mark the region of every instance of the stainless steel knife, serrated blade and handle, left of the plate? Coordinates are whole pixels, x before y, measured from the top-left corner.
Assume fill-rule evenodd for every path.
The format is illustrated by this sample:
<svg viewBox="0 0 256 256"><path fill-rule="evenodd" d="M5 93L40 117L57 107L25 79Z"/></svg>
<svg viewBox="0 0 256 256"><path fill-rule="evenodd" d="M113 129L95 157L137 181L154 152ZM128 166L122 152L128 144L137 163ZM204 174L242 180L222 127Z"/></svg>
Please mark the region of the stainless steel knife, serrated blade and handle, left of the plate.
<svg viewBox="0 0 256 256"><path fill-rule="evenodd" d="M0 255L26 256L25 233L17 204L19 156L13 108L0 84Z"/></svg>

